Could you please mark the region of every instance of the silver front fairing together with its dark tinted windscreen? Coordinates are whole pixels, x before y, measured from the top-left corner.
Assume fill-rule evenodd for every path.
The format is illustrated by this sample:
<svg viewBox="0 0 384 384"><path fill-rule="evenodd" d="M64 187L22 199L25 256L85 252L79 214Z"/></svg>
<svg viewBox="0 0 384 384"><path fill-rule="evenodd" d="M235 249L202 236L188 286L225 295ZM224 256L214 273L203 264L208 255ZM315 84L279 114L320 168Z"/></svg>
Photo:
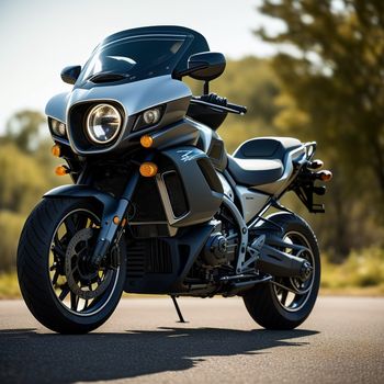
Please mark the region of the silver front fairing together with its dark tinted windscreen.
<svg viewBox="0 0 384 384"><path fill-rule="evenodd" d="M124 148L135 120L153 106L161 105L163 111L154 128L183 118L191 90L174 79L174 74L187 68L192 54L206 50L208 45L201 34L179 26L142 27L106 37L92 53L74 89L49 100L48 117L67 125L67 137L54 139L67 140L78 155L99 154ZM122 78L113 78L118 75ZM109 145L94 145L83 135L88 112L99 103L113 104L123 117L117 137Z"/></svg>

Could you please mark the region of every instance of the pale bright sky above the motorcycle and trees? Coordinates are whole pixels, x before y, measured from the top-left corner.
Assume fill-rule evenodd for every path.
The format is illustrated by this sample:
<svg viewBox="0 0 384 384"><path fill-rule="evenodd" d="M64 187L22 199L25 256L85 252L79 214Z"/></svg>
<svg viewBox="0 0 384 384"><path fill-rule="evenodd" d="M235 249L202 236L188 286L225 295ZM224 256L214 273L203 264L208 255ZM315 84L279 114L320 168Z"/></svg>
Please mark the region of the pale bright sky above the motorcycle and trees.
<svg viewBox="0 0 384 384"><path fill-rule="evenodd" d="M60 71L83 65L108 35L144 25L183 25L202 33L227 58L270 56L252 34L278 22L257 13L260 0L0 0L0 133L22 109L44 111L69 91Z"/></svg>

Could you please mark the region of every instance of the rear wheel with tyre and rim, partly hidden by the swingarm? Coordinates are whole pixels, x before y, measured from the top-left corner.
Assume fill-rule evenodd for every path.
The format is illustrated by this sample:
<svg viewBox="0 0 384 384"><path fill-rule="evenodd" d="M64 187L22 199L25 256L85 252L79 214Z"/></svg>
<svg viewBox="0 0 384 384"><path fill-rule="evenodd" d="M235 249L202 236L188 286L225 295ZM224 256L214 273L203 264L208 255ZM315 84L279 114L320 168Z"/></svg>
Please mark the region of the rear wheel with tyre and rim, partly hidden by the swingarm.
<svg viewBox="0 0 384 384"><path fill-rule="evenodd" d="M274 283L256 285L246 292L244 302L248 313L267 329L293 329L310 314L320 283L320 257L315 234L308 224L296 215L279 213L269 217L283 229L283 240L301 246L300 255L307 259L313 271L309 279L274 278Z"/></svg>

